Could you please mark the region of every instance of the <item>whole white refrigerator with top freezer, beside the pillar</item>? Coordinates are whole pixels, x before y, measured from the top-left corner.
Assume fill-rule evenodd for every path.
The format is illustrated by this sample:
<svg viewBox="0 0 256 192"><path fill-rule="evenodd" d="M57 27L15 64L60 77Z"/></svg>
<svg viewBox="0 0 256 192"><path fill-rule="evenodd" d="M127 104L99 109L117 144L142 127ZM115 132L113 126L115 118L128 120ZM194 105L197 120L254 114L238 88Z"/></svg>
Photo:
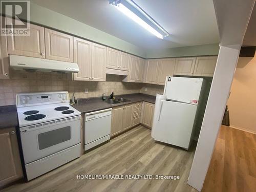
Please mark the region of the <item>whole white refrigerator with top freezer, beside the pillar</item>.
<svg viewBox="0 0 256 192"><path fill-rule="evenodd" d="M164 94L157 94L152 137L188 150L195 129L201 129L203 78L166 77Z"/></svg>

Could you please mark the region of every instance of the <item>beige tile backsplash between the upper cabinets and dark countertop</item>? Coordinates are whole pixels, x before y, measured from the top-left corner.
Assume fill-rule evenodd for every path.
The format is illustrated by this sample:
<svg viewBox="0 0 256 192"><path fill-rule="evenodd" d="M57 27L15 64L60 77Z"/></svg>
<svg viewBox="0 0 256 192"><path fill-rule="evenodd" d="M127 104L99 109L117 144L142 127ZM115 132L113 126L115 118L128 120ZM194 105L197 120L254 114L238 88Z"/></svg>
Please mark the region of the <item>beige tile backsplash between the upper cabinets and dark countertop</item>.
<svg viewBox="0 0 256 192"><path fill-rule="evenodd" d="M0 79L0 105L15 104L16 94L23 92L68 91L70 97L75 92L76 98L98 97L102 93L110 95L112 91L116 95L131 93L156 95L163 92L163 86L122 82L124 76L119 75L107 74L105 82L73 81L72 74L11 70L10 75L10 79ZM85 93L85 89L89 92Z"/></svg>

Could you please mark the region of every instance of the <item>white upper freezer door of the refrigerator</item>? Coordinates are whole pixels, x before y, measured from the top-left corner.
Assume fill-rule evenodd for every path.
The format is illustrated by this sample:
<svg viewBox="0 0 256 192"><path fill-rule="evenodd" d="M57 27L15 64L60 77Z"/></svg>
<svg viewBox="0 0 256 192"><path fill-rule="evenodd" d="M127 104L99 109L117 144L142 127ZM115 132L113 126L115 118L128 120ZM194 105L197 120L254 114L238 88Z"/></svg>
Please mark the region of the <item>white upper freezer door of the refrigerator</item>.
<svg viewBox="0 0 256 192"><path fill-rule="evenodd" d="M197 104L203 78L171 77L165 84L166 99Z"/></svg>

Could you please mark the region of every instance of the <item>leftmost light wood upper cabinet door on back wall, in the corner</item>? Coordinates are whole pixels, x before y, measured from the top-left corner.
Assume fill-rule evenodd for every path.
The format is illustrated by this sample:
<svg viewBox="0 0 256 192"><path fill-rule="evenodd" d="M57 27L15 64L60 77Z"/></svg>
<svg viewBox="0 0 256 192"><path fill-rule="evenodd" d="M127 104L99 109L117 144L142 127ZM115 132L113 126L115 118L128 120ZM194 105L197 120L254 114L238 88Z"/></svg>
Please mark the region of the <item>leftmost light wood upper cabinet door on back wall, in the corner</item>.
<svg viewBox="0 0 256 192"><path fill-rule="evenodd" d="M156 83L157 79L158 60L147 60L145 65L145 82Z"/></svg>

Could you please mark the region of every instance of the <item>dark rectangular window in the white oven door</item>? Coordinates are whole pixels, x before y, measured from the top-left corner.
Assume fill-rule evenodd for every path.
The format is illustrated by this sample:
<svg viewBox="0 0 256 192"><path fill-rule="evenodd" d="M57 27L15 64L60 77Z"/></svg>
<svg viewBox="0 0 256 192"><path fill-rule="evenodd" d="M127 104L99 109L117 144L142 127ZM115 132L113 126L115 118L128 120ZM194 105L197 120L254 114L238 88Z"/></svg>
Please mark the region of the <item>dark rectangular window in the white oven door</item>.
<svg viewBox="0 0 256 192"><path fill-rule="evenodd" d="M71 127L66 126L57 130L38 134L39 150L68 141L71 139Z"/></svg>

